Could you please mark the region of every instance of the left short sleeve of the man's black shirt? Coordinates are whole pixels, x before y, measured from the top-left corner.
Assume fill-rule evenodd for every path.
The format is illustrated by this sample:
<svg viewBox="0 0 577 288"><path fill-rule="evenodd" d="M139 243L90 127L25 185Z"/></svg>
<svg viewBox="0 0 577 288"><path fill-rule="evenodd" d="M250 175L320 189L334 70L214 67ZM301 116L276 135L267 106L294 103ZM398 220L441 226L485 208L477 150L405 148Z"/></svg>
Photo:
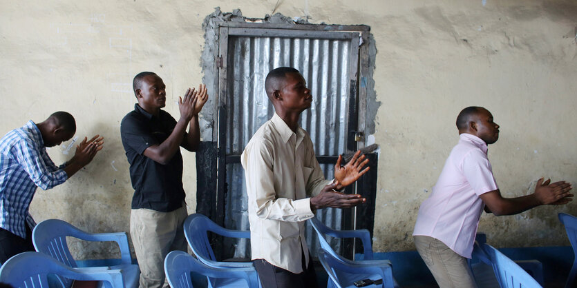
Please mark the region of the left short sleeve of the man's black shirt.
<svg viewBox="0 0 577 288"><path fill-rule="evenodd" d="M142 155L146 148L160 144L151 134L149 127L135 117L126 116L120 124L120 136L125 143L138 154Z"/></svg>

